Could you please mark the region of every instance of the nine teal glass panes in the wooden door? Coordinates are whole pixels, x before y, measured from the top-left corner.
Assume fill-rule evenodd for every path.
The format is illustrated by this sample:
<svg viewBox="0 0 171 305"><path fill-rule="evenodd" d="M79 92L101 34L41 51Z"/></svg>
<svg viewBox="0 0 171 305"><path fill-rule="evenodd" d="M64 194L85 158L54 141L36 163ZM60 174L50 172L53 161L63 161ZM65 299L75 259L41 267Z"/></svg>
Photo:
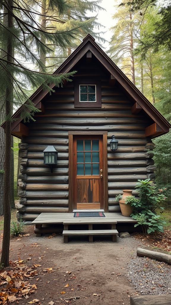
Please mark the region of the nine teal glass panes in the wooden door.
<svg viewBox="0 0 171 305"><path fill-rule="evenodd" d="M77 175L99 175L99 140L77 140Z"/></svg>

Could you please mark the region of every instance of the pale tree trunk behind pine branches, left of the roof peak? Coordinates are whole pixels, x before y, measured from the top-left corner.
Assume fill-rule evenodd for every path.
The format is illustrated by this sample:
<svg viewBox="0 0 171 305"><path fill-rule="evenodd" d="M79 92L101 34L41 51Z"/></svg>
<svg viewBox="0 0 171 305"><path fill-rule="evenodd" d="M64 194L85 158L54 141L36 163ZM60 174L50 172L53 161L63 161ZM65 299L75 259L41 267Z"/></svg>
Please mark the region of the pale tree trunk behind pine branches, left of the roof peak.
<svg viewBox="0 0 171 305"><path fill-rule="evenodd" d="M41 9L41 29L43 31L46 30L46 0L42 0L42 9ZM41 34L40 38L42 44L46 44L46 39L44 35ZM45 66L46 66L46 53L40 48L40 61L41 61L41 66L39 66L39 72L44 72Z"/></svg>

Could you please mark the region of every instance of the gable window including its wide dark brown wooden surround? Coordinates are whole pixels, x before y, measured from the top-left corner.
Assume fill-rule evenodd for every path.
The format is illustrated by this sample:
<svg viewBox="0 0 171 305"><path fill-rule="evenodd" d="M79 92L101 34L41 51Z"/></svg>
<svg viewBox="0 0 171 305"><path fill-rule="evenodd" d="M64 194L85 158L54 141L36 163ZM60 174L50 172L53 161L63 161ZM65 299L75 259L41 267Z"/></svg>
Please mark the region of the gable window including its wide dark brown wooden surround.
<svg viewBox="0 0 171 305"><path fill-rule="evenodd" d="M101 82L99 80L75 80L74 107L101 107Z"/></svg>

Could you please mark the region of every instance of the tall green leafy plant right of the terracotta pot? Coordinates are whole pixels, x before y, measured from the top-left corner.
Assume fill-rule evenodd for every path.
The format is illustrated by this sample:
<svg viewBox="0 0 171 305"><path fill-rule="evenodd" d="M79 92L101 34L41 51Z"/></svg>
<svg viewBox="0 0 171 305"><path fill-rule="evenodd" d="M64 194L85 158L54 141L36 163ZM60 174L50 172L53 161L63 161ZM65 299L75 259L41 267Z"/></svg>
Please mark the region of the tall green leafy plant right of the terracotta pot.
<svg viewBox="0 0 171 305"><path fill-rule="evenodd" d="M163 189L157 189L150 179L138 180L135 188L138 188L141 199L131 214L131 217L138 222L134 227L140 224L143 232L148 234L155 231L163 232L163 225L166 222L156 214L156 209L164 210L164 207L160 206L166 199L162 194Z"/></svg>

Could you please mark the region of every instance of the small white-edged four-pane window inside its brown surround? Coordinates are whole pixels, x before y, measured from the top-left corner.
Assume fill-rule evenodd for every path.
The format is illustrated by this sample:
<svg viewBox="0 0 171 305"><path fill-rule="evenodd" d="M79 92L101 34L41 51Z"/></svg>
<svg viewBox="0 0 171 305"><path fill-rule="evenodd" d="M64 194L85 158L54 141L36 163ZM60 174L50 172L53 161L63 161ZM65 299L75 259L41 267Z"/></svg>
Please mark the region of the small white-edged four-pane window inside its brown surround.
<svg viewBox="0 0 171 305"><path fill-rule="evenodd" d="M80 85L80 102L96 102L96 85Z"/></svg>

